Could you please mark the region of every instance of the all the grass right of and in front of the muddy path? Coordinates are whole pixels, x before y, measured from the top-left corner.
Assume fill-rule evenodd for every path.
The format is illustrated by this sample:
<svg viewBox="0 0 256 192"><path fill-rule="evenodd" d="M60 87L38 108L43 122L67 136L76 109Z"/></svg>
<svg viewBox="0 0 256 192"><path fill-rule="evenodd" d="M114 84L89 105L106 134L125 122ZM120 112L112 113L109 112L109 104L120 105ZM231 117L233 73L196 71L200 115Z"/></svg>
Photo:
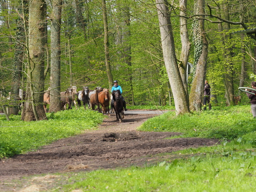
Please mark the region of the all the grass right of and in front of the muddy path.
<svg viewBox="0 0 256 192"><path fill-rule="evenodd" d="M165 161L154 165L145 163L141 168L131 166L113 170L56 173L55 184L47 185L42 190L253 192L256 188L254 121L249 105L215 106L211 111L180 116L168 112L148 119L140 130L182 132L182 137L218 138L222 140L221 144L164 154ZM16 182L33 184L30 177Z"/></svg>

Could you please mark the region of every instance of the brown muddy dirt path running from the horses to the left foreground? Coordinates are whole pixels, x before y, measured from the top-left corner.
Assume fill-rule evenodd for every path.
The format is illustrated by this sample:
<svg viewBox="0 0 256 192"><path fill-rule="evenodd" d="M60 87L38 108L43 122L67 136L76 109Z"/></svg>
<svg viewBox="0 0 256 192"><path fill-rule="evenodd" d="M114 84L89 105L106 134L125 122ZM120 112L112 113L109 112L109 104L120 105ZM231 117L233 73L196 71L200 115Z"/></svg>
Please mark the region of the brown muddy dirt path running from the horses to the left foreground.
<svg viewBox="0 0 256 192"><path fill-rule="evenodd" d="M125 114L123 123L118 123L116 115L111 114L99 126L99 130L85 131L83 134L58 140L35 152L1 159L0 183L42 173L145 166L170 159L164 153L215 145L218 142L204 138L164 139L181 133L136 130L153 116L156 114Z"/></svg>

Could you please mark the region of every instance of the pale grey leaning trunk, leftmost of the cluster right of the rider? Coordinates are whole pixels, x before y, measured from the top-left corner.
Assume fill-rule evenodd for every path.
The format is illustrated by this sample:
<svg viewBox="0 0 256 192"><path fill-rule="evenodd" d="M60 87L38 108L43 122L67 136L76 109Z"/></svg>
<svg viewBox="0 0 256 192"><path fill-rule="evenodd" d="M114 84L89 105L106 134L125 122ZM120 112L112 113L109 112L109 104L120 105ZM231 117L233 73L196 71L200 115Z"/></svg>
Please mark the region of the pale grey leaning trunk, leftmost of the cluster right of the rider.
<svg viewBox="0 0 256 192"><path fill-rule="evenodd" d="M190 112L189 99L183 86L176 61L173 30L167 3L166 0L156 0L156 7L160 26L164 64L166 66L171 90L173 90L176 114L181 114Z"/></svg>

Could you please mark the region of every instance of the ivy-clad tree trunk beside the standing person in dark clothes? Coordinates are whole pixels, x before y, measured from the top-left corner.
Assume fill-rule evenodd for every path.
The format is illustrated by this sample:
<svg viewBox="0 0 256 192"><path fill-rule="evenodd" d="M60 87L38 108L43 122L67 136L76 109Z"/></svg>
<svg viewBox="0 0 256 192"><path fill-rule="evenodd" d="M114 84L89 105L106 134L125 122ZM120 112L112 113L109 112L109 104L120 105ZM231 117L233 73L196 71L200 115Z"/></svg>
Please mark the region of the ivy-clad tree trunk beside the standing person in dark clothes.
<svg viewBox="0 0 256 192"><path fill-rule="evenodd" d="M204 14L204 0L194 3L195 14ZM189 95L190 110L200 111L202 106L204 78L206 74L206 61L208 55L208 42L204 31L204 20L195 20L193 23L194 39L194 79Z"/></svg>

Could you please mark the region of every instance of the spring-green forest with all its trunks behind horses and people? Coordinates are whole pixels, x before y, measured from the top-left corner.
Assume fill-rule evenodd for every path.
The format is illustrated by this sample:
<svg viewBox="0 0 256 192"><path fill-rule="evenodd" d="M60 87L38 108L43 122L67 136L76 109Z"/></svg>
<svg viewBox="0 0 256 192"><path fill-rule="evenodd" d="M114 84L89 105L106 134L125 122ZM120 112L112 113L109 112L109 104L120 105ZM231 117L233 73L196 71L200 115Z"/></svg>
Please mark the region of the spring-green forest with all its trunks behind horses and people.
<svg viewBox="0 0 256 192"><path fill-rule="evenodd" d="M255 0L1 0L2 95L14 102L26 90L25 121L46 117L48 87L50 111L60 111L69 86L113 80L130 105L201 110L206 79L214 102L233 105L237 88L255 79L255 30L234 33L255 28L255 10Z"/></svg>

